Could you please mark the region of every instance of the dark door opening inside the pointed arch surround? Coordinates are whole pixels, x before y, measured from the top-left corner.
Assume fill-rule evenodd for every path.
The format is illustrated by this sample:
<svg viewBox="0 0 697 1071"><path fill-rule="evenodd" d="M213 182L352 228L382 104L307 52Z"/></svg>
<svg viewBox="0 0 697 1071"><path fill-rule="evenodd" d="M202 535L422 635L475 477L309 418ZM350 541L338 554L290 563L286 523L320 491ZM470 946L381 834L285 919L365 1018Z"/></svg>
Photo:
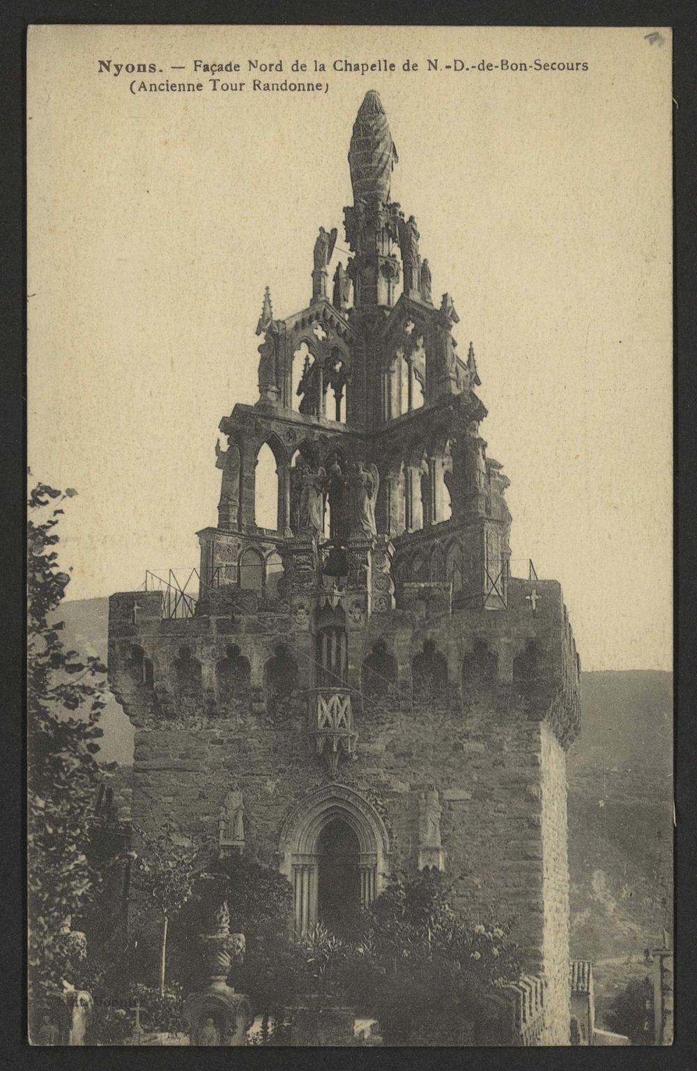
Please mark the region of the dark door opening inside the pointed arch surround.
<svg viewBox="0 0 697 1071"><path fill-rule="evenodd" d="M361 847L351 827L334 818L317 841L317 918L337 937L350 937L361 907Z"/></svg>

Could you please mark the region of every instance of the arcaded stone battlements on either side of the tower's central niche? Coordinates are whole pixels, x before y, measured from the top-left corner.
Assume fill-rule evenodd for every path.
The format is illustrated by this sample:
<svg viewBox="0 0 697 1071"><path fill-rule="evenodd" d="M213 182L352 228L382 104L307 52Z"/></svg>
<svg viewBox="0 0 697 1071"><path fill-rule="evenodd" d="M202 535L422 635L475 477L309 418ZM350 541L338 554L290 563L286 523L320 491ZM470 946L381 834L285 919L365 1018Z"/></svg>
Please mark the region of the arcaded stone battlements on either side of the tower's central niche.
<svg viewBox="0 0 697 1071"><path fill-rule="evenodd" d="M580 665L569 625L561 588L554 580L509 582L507 609L452 608L448 585L406 585L400 608L347 617L346 688L357 706L369 707L366 663L378 655L385 663L388 683L380 693L398 705L410 705L419 682L414 662L428 651L435 673L428 699L460 709L478 695L490 695L498 706L517 709L532 720L549 719L564 746L579 730ZM350 604L342 597L337 604ZM221 666L230 651L248 666L243 699L268 699L267 665L283 649L296 664L296 689L317 685L317 627L314 599L291 594L264 600L254 591L231 587L210 593L190 618L167 618L161 592L120 592L109 600L109 681L135 724L155 724L184 716L198 694L208 718L224 715L229 690L222 692ZM342 610L340 610L342 612ZM355 618L359 620L355 620ZM379 672L379 669L378 669ZM177 688L177 675L190 681ZM379 689L378 689L379 691ZM190 694L191 693L191 694ZM423 699L423 696L421 697ZM199 716L199 715L197 715Z"/></svg>

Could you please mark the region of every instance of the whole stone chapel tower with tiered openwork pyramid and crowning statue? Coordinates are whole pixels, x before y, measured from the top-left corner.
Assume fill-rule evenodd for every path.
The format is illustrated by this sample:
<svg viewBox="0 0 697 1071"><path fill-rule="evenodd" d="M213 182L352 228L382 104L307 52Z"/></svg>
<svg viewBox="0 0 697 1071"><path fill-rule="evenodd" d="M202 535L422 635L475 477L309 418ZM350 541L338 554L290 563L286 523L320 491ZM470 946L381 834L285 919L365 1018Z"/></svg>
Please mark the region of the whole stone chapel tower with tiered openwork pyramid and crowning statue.
<svg viewBox="0 0 697 1071"><path fill-rule="evenodd" d="M320 227L307 307L276 319L266 291L259 398L221 421L198 600L111 597L134 824L173 816L278 868L299 931L340 929L391 872L444 869L470 917L517 917L544 1005L528 1043L566 1044L579 660L559 585L510 575L474 351L458 355L453 299L434 302L416 221L390 199L396 163L370 91L351 256Z"/></svg>

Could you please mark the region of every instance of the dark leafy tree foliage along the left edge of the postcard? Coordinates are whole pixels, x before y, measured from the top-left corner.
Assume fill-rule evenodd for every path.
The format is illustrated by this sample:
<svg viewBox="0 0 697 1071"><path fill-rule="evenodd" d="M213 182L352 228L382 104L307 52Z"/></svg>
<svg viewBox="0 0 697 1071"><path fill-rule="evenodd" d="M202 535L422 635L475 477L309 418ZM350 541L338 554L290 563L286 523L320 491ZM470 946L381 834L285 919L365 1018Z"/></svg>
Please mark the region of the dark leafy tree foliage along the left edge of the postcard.
<svg viewBox="0 0 697 1071"><path fill-rule="evenodd" d="M73 929L89 907L97 876L88 861L91 804L106 667L60 638L57 610L70 574L59 568L60 503L72 488L39 483L30 492L27 531L28 910L29 989L60 989L79 970L85 945Z"/></svg>

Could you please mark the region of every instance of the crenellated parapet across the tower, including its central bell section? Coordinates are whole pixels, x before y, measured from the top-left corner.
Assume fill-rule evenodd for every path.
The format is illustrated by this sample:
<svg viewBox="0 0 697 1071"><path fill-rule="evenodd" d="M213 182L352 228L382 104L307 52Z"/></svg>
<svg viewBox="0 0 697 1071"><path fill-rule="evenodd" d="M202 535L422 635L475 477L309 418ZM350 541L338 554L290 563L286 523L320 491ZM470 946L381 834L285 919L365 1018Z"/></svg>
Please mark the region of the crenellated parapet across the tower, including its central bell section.
<svg viewBox="0 0 697 1071"><path fill-rule="evenodd" d="M294 667L287 698L301 706L339 687L362 715L391 680L398 706L485 703L548 722L566 750L580 730L580 664L559 585L511 578L498 613L454 606L444 583L406 584L395 603L392 553L385 541L352 541L339 583L322 576L316 541L289 541L276 598L219 588L187 619L168 619L158 592L112 595L110 685L136 724L203 725L237 703L267 710L269 665L285 659Z"/></svg>

